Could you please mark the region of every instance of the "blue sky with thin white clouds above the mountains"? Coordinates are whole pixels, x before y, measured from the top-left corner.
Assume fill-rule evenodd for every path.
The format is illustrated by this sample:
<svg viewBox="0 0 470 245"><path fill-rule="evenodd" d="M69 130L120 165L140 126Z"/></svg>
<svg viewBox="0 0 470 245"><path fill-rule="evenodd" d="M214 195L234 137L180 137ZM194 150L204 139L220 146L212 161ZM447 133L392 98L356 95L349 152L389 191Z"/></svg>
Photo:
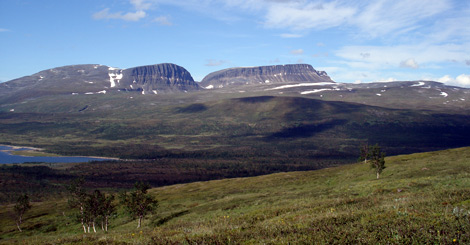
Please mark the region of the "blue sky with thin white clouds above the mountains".
<svg viewBox="0 0 470 245"><path fill-rule="evenodd" d="M307 63L336 82L470 87L468 0L0 0L0 81L72 64Z"/></svg>

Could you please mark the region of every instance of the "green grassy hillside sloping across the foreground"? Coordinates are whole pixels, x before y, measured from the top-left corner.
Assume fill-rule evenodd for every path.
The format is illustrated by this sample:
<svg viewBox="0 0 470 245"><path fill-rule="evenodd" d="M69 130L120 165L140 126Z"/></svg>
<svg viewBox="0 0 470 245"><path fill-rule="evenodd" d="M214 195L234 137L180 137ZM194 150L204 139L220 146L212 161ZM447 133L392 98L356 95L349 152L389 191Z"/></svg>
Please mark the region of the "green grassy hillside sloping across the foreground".
<svg viewBox="0 0 470 245"><path fill-rule="evenodd" d="M24 232L0 211L1 243L470 243L470 148L364 164L152 189L141 230L122 213L83 235L65 200L34 203Z"/></svg>

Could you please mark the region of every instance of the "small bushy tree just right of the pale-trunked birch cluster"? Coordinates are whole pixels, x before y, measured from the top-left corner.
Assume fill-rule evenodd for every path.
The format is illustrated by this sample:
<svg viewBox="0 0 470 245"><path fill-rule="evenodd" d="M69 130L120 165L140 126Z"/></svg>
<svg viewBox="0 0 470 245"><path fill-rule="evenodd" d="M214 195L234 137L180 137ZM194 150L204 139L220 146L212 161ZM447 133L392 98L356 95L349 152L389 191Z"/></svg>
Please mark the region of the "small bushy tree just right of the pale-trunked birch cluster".
<svg viewBox="0 0 470 245"><path fill-rule="evenodd" d="M133 219L138 219L137 228L140 228L145 216L157 208L158 201L147 193L148 183L136 182L134 188L133 192L121 195L121 203Z"/></svg>

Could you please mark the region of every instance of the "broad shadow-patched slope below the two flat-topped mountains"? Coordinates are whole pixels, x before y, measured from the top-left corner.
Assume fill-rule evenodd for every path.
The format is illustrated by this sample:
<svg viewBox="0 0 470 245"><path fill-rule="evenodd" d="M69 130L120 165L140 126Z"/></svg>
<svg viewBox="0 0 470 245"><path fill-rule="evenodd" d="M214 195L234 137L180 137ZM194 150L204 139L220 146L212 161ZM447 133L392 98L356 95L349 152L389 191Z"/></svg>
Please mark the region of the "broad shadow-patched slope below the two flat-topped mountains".
<svg viewBox="0 0 470 245"><path fill-rule="evenodd" d="M182 151L325 160L354 159L367 141L388 154L470 145L468 115L285 96L172 97L174 104L169 96L77 95L4 107L0 143L123 158ZM146 147L135 152L138 145Z"/></svg>

